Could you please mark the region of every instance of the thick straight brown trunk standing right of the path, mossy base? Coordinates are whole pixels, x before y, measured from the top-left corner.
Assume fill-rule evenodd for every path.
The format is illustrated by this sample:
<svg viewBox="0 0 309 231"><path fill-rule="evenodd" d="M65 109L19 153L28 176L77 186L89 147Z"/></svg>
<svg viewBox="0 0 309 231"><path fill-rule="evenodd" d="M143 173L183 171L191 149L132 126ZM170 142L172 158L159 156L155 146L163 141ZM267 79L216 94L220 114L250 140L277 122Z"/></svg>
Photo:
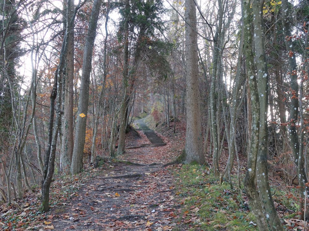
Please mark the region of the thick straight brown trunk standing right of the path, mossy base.
<svg viewBox="0 0 309 231"><path fill-rule="evenodd" d="M194 0L185 1L185 36L186 36L186 144L185 163L194 161L205 163L199 105L198 56L197 56L197 19ZM167 118L168 119L168 118Z"/></svg>

